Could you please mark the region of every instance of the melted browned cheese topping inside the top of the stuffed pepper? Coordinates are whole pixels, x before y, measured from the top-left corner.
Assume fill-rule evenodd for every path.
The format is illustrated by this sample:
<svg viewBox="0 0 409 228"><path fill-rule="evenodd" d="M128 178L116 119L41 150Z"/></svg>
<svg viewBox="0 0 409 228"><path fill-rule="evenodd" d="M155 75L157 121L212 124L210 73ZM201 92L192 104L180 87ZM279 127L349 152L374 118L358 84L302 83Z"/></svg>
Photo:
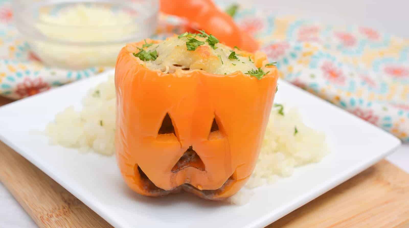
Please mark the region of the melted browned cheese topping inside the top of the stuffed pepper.
<svg viewBox="0 0 409 228"><path fill-rule="evenodd" d="M221 43L216 43L213 49L203 37L196 36L198 41L205 42L194 51L187 50L187 37L178 38L173 36L161 43L151 45L145 50L156 50L158 57L155 61L145 61L146 67L151 70L161 70L173 73L178 69L186 71L204 70L211 74L231 74L236 71L243 73L249 70L257 70L254 65L253 54L232 49ZM235 51L237 59L229 59L231 52ZM252 56L250 61L249 56Z"/></svg>

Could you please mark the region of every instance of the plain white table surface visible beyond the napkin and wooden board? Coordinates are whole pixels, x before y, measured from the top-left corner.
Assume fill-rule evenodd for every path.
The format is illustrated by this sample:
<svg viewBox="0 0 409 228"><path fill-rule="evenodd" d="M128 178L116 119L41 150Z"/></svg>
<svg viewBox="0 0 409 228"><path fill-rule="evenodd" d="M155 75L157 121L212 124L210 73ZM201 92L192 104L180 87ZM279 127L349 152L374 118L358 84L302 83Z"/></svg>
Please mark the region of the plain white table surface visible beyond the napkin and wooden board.
<svg viewBox="0 0 409 228"><path fill-rule="evenodd" d="M328 23L365 25L398 36L409 37L409 29L404 29L407 21L407 0L253 0L255 5L279 14L299 14ZM405 20L406 18L406 20ZM409 172L409 144L401 146L387 157L391 163ZM0 183L0 227L37 227L34 221Z"/></svg>

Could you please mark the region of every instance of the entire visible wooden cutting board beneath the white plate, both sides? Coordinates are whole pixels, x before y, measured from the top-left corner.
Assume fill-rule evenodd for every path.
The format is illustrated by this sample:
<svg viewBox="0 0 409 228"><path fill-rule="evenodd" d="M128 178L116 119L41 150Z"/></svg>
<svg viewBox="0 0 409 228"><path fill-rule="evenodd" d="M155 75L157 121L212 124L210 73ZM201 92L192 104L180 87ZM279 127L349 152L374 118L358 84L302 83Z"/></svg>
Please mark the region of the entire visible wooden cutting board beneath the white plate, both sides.
<svg viewBox="0 0 409 228"><path fill-rule="evenodd" d="M1 141L0 158L0 181L39 227L112 227ZM382 160L267 227L409 228L409 174Z"/></svg>

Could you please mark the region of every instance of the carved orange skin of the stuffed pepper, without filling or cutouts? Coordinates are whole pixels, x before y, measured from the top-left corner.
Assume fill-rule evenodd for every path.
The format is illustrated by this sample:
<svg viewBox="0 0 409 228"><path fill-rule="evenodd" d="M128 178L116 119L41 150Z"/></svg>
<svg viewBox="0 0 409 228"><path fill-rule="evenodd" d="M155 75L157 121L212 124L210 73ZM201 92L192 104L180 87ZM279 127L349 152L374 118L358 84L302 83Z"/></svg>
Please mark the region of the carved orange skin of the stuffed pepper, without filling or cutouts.
<svg viewBox="0 0 409 228"><path fill-rule="evenodd" d="M115 69L115 146L125 182L147 196L181 189L211 200L235 194L256 164L276 92L277 69L271 66L260 80L240 71L165 74L146 68L133 56L143 44L122 48ZM175 134L158 133L166 114ZM213 119L218 131L211 131ZM189 166L172 172L189 147L202 160L204 170ZM146 185L146 178L154 186Z"/></svg>

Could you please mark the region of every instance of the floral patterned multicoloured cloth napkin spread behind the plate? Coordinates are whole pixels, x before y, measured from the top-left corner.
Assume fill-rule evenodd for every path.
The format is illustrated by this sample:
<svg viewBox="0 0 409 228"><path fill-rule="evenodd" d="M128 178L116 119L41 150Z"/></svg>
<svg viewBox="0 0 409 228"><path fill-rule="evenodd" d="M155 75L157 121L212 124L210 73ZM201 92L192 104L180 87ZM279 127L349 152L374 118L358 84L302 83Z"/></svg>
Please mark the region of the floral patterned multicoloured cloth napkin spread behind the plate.
<svg viewBox="0 0 409 228"><path fill-rule="evenodd" d="M20 99L105 70L42 65L12 18L11 2L0 1L0 95ZM409 39L252 7L240 7L234 19L258 38L283 79L409 142ZM161 15L155 38L189 29L186 21Z"/></svg>

